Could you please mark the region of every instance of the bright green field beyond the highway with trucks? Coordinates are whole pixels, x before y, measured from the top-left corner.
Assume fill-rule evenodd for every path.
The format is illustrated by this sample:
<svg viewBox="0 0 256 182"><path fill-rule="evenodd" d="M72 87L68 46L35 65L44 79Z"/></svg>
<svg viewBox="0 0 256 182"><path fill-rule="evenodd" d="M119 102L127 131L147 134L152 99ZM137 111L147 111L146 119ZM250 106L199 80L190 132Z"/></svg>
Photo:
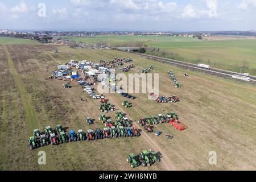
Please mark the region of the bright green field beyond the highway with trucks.
<svg viewBox="0 0 256 182"><path fill-rule="evenodd" d="M214 68L235 72L248 72L256 75L256 40L196 40L174 36L117 36L102 35L88 38L62 37L88 44L103 43L107 46L158 47L160 51L147 51L155 56L162 56L190 63L205 63Z"/></svg>

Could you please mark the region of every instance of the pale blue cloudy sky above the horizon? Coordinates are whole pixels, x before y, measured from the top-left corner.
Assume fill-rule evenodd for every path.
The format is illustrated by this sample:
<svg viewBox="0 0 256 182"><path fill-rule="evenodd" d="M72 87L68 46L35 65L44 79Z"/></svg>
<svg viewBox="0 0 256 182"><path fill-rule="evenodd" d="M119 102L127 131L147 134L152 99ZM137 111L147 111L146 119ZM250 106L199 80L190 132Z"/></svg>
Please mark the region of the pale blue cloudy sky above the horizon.
<svg viewBox="0 0 256 182"><path fill-rule="evenodd" d="M14 30L256 30L255 17L256 0L0 0Z"/></svg>

